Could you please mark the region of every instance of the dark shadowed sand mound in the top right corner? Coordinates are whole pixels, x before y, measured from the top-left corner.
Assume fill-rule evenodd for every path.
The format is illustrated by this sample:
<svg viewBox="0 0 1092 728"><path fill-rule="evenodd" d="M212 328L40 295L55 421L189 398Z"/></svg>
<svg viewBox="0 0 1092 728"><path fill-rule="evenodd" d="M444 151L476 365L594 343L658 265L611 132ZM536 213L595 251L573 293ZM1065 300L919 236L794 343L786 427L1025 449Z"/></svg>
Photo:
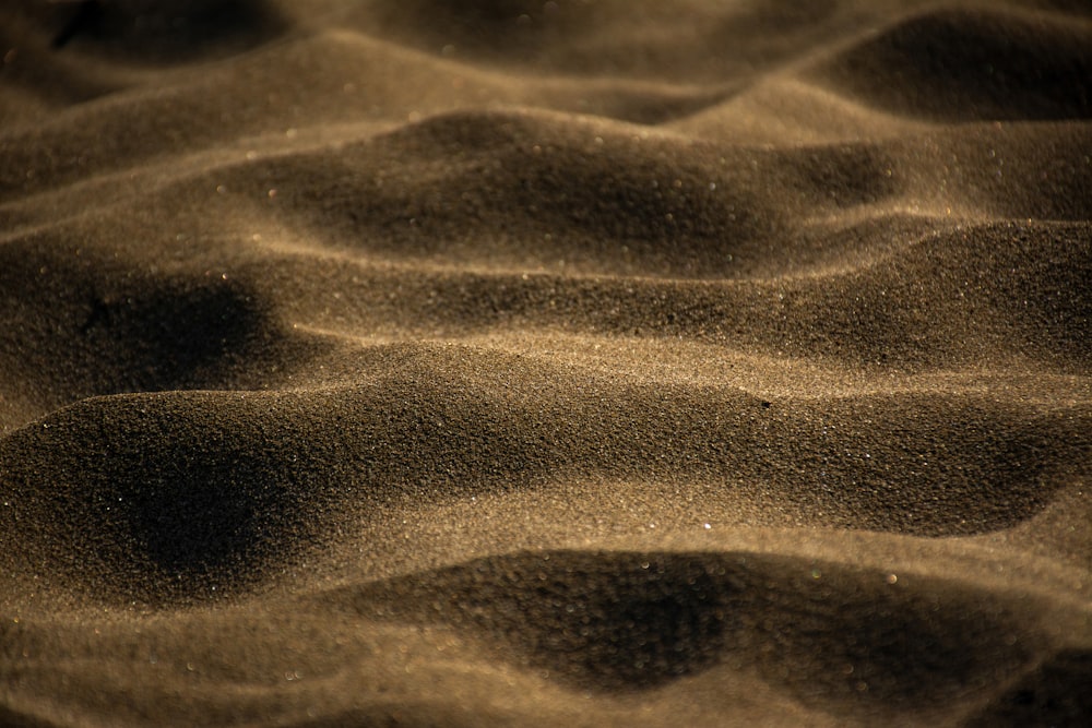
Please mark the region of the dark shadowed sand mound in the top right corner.
<svg viewBox="0 0 1092 728"><path fill-rule="evenodd" d="M1087 119L1092 24L1063 15L939 10L815 69L897 114L938 121ZM913 93L898 89L913 88Z"/></svg>

